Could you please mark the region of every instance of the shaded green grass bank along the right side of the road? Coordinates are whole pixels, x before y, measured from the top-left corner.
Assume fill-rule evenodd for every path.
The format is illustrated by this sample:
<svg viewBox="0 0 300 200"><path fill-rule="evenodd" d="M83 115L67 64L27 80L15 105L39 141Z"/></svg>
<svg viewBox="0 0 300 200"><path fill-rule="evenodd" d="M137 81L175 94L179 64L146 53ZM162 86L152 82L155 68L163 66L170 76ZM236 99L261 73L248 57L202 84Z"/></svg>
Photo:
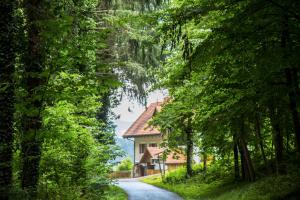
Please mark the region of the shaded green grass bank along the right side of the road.
<svg viewBox="0 0 300 200"><path fill-rule="evenodd" d="M166 180L176 180L182 169L166 175ZM175 177L175 178L174 178ZM207 181L209 180L209 181ZM177 182L162 182L160 176L151 176L141 181L179 194L186 200L269 200L300 199L300 173L264 177L253 183L235 182L230 176L222 179L204 179L203 174Z"/></svg>

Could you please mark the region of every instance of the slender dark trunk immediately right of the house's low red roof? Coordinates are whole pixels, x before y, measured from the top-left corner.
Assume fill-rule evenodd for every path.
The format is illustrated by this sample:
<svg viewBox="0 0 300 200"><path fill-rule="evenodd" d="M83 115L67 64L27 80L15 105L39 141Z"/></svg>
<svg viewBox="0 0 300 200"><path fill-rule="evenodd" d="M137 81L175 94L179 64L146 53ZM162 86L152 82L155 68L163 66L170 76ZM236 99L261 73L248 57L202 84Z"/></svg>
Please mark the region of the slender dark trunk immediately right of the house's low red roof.
<svg viewBox="0 0 300 200"><path fill-rule="evenodd" d="M193 133L190 119L186 128L186 174L187 177L193 175L192 162L193 162Z"/></svg>

